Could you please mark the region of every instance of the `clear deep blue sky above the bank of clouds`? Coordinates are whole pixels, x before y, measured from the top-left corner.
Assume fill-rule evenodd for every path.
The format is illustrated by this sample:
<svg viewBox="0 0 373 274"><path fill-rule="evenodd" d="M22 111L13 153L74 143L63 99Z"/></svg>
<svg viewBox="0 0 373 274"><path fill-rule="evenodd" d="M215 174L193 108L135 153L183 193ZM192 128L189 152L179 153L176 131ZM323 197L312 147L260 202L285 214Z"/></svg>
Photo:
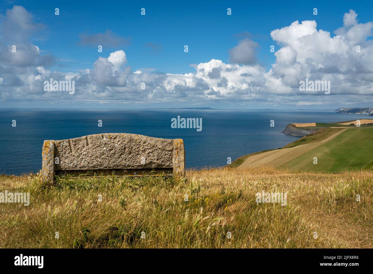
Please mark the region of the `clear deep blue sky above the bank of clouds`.
<svg viewBox="0 0 373 274"><path fill-rule="evenodd" d="M349 9L359 12L361 21L372 20L372 9L365 9L369 1L15 1L30 11L38 22L46 25L45 37L37 42L40 48L59 57L60 70L93 68L98 56L106 57L115 50L125 50L128 64L133 68L155 68L167 73L193 72L189 64L220 59L228 62L228 50L248 32L258 42L258 59L266 66L274 62L269 52L273 42L273 29L290 25L294 21L317 19L317 26L333 32L341 26L342 16ZM38 3L38 4L35 4ZM4 5L2 13L13 4ZM369 4L372 7L372 4ZM60 15L54 15L54 9ZM141 8L145 16L141 16ZM232 9L227 16L226 9ZM317 16L313 8L318 9ZM125 38L129 45L106 47L102 53L96 48L79 45L79 34L104 33L111 30ZM145 44L153 43L160 50L153 52ZM36 44L36 43L35 43ZM188 54L184 53L188 45ZM90 63L87 65L87 63Z"/></svg>

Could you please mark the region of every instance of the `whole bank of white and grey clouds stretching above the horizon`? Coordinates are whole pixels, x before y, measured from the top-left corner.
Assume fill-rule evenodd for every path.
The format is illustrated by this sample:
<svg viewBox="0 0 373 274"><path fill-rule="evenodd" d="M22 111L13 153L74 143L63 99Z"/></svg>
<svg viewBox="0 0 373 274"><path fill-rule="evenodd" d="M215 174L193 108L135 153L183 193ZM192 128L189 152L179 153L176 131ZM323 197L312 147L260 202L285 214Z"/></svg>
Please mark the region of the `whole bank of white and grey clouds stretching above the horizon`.
<svg viewBox="0 0 373 274"><path fill-rule="evenodd" d="M9 33L15 26L24 33L39 27L22 7L15 6L6 15L1 22L2 33ZM107 104L224 102L281 106L323 105L326 101L334 101L341 105L358 105L373 93L373 41L368 39L372 28L373 22L358 23L353 10L344 15L343 25L334 36L317 29L316 21L295 21L270 33L279 50L269 70L257 62L258 44L244 39L229 50L231 63L212 59L191 65L195 71L184 74L160 73L146 68L132 70L127 60L131 56L123 50L93 60L93 69L82 68L77 73L51 71L54 57L42 55L29 36L16 35L16 53L12 53L12 44L0 41L0 100L62 103L74 100ZM95 39L92 41L97 43ZM75 93L44 91L43 82L50 78L75 81ZM330 94L300 91L299 82L306 78L330 81Z"/></svg>

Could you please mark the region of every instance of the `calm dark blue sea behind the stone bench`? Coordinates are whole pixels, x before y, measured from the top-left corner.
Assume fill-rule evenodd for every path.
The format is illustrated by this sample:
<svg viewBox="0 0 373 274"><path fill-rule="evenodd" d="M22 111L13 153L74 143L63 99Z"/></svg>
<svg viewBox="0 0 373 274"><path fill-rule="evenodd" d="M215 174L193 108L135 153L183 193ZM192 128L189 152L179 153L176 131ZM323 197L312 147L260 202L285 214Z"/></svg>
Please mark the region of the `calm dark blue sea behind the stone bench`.
<svg viewBox="0 0 373 274"><path fill-rule="evenodd" d="M202 131L173 129L171 119L202 118ZM251 152L280 148L298 137L280 133L289 123L336 122L367 115L332 111L286 110L89 110L0 109L0 173L22 174L41 169L44 140L96 133L135 133L182 138L186 167L224 166ZM16 120L16 127L12 127ZM102 127L98 127L102 120ZM275 127L270 127L275 120Z"/></svg>

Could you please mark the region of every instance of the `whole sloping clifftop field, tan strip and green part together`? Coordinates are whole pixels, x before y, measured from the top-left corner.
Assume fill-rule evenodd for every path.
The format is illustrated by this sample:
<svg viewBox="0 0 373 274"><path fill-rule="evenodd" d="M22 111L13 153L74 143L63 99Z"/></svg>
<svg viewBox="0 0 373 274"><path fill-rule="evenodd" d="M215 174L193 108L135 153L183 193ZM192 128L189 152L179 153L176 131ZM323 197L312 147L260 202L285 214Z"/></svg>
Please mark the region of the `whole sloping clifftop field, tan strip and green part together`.
<svg viewBox="0 0 373 274"><path fill-rule="evenodd" d="M261 165L289 170L340 172L373 167L373 128L324 128L282 149L247 155L239 168ZM317 164L314 164L317 157Z"/></svg>

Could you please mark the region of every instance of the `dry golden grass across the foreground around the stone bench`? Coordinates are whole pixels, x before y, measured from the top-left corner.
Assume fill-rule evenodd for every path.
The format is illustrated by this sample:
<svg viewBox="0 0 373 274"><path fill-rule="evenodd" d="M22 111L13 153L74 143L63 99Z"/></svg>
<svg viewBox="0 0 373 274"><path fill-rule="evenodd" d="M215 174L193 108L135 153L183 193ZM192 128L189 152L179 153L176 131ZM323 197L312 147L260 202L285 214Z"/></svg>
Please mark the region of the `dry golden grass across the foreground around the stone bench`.
<svg viewBox="0 0 373 274"><path fill-rule="evenodd" d="M0 204L0 248L372 248L372 179L260 167L48 188L35 175L0 176L0 192L31 193L29 206ZM257 204L262 190L288 192L288 204Z"/></svg>

